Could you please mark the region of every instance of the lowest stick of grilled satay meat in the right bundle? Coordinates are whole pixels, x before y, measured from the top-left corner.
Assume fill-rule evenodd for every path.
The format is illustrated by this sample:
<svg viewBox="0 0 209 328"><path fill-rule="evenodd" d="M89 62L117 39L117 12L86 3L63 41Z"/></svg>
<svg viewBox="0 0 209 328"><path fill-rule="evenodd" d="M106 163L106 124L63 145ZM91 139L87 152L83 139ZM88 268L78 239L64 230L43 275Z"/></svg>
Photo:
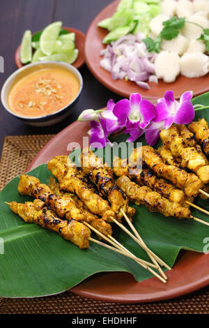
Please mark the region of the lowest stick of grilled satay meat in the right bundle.
<svg viewBox="0 0 209 328"><path fill-rule="evenodd" d="M169 202L160 193L152 191L147 186L138 186L128 177L119 177L116 184L126 193L127 197L135 204L144 204L149 211L160 212L164 216L175 216L176 218L191 218L189 209L181 207L176 202Z"/></svg>

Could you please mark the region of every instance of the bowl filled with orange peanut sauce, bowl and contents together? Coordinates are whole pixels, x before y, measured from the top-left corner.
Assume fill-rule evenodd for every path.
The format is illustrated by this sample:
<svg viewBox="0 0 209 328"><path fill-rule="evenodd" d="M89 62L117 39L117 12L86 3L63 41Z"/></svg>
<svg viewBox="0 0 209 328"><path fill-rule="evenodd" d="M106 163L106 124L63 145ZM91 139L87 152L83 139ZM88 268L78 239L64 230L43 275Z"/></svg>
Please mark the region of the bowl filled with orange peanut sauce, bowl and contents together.
<svg viewBox="0 0 209 328"><path fill-rule="evenodd" d="M8 77L1 89L1 103L26 124L51 126L72 112L82 87L77 68L58 61L38 62Z"/></svg>

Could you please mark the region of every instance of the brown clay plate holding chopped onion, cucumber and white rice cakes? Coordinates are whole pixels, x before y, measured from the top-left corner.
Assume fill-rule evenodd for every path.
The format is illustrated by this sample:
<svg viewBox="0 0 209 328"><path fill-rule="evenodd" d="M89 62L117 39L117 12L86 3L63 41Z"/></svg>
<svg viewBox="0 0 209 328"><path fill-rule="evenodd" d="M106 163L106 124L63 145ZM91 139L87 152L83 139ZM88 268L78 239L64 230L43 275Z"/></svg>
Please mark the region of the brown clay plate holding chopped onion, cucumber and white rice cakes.
<svg viewBox="0 0 209 328"><path fill-rule="evenodd" d="M192 90L194 96L198 96L209 90L209 75L192 79L180 75L176 82L173 83L165 83L162 80L160 80L158 84L152 82L149 83L150 90L141 89L137 84L131 81L112 80L111 73L100 67L100 60L102 59L102 57L100 57L100 51L106 47L106 45L102 45L102 39L106 36L107 30L98 27L98 22L113 15L119 2L119 0L116 0L105 7L95 17L93 22L91 22L86 33L84 44L85 61L97 80L104 84L105 87L121 96L128 98L130 94L139 92L144 98L153 101L162 98L167 90L173 90L174 96L177 99L187 90Z"/></svg>

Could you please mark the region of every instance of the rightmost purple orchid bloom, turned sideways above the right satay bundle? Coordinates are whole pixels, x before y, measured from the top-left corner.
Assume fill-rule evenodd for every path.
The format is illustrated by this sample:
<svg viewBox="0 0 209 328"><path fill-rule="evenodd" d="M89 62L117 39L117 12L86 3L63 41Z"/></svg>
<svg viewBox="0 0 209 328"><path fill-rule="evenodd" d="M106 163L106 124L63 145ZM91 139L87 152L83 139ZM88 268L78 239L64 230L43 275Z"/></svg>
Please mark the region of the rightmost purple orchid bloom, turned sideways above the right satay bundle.
<svg viewBox="0 0 209 328"><path fill-rule="evenodd" d="M153 121L164 120L164 127L170 128L173 123L189 124L194 119L194 107L191 102L192 91L186 91L180 96L180 101L174 99L173 91L167 91L164 98L158 100L155 107L156 117Z"/></svg>

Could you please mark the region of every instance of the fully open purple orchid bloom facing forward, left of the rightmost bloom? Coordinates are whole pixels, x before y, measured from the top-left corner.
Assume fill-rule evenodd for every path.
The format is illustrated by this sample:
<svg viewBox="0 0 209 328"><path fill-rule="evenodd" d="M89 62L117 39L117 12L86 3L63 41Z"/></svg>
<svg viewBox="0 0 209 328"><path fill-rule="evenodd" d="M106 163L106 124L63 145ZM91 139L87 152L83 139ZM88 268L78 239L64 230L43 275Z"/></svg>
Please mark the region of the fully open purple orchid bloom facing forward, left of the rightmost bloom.
<svg viewBox="0 0 209 328"><path fill-rule="evenodd" d="M141 99L140 94L131 94L130 100L119 100L113 109L120 126L125 126L127 131L146 128L155 117L155 106L146 99Z"/></svg>

